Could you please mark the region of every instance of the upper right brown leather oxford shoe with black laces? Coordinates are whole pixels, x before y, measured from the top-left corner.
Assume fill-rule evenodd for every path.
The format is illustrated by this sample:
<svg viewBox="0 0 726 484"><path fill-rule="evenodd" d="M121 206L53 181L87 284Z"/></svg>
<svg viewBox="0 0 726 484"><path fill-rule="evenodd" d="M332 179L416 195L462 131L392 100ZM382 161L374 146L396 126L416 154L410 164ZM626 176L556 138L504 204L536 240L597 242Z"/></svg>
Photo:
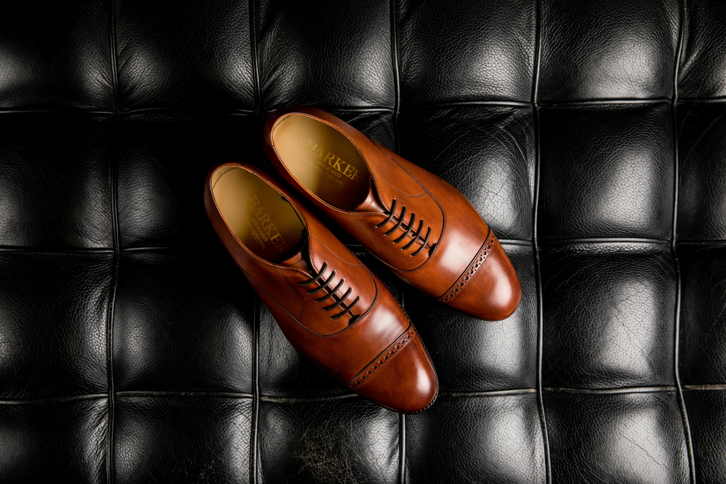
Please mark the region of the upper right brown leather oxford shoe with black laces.
<svg viewBox="0 0 726 484"><path fill-rule="evenodd" d="M413 287L489 321L519 305L497 237L446 181L315 107L272 113L263 145L295 189Z"/></svg>

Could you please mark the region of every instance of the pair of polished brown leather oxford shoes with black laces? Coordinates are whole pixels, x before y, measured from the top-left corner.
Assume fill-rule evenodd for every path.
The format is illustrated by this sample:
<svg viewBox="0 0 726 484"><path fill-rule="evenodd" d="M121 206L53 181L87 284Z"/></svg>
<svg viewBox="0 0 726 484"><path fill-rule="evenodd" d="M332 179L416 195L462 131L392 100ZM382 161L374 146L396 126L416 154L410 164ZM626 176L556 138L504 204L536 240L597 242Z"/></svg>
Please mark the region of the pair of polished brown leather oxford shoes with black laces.
<svg viewBox="0 0 726 484"><path fill-rule="evenodd" d="M510 316L519 279L471 203L342 120L278 110L264 149L282 177L417 289L480 319ZM391 292L286 189L247 163L213 168L209 218L290 343L396 411L433 403L431 359Z"/></svg>

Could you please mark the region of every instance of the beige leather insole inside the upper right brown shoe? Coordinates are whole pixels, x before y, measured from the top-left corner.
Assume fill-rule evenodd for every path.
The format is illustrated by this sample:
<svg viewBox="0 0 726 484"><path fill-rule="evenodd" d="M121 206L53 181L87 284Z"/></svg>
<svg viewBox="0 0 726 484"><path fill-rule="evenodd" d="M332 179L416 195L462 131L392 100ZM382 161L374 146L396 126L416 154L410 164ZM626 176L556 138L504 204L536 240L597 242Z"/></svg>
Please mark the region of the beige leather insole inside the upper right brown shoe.
<svg viewBox="0 0 726 484"><path fill-rule="evenodd" d="M274 127L272 142L293 176L330 205L353 210L366 199L370 172L354 144L337 129L292 114Z"/></svg>

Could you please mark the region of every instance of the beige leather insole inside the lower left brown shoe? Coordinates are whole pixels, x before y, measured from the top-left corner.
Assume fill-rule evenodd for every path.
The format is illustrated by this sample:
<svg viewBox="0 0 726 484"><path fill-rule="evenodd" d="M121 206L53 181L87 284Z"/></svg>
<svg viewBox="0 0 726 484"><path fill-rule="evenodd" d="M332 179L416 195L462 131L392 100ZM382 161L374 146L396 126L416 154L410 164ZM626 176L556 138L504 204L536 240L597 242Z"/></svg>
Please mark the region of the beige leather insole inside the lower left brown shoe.
<svg viewBox="0 0 726 484"><path fill-rule="evenodd" d="M212 194L242 244L266 261L279 261L303 238L305 226L282 194L254 173L220 168Z"/></svg>

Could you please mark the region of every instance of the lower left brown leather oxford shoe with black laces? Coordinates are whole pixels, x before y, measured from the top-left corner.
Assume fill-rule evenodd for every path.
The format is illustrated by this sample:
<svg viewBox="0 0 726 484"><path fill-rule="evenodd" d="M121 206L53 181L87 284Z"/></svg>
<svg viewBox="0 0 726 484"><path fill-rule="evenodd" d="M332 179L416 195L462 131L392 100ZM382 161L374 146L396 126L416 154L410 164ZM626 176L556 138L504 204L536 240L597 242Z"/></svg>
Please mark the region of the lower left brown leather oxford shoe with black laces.
<svg viewBox="0 0 726 484"><path fill-rule="evenodd" d="M348 389L395 411L420 411L436 372L391 292L280 184L226 163L206 179L214 229L290 343Z"/></svg>

